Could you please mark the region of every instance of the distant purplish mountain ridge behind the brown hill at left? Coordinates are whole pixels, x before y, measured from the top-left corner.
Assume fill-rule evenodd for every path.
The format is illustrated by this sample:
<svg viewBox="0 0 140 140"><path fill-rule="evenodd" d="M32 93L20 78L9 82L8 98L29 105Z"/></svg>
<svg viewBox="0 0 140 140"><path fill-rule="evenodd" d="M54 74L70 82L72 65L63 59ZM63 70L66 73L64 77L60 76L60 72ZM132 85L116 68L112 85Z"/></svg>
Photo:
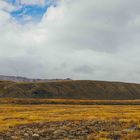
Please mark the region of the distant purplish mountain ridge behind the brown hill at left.
<svg viewBox="0 0 140 140"><path fill-rule="evenodd" d="M49 82L49 81L70 80L70 79L69 78L67 79L31 79L31 78L26 78L26 77L21 77L21 76L0 75L0 80L13 81L13 82Z"/></svg>

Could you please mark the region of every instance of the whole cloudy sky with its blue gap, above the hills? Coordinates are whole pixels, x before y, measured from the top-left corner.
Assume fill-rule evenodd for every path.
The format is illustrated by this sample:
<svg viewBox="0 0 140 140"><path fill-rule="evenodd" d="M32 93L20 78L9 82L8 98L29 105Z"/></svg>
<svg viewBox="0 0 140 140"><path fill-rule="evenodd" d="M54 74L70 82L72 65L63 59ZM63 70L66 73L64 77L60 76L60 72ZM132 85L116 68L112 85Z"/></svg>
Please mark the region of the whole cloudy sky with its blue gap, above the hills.
<svg viewBox="0 0 140 140"><path fill-rule="evenodd" d="M0 0L0 74L140 83L139 0Z"/></svg>

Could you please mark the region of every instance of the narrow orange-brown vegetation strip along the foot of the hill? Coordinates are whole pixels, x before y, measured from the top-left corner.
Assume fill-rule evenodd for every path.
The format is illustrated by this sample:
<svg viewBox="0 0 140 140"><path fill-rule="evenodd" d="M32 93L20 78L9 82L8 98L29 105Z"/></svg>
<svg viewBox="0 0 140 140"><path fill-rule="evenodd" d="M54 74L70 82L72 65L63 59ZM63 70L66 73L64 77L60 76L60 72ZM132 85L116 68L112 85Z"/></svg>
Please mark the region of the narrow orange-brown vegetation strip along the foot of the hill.
<svg viewBox="0 0 140 140"><path fill-rule="evenodd" d="M74 100L0 98L0 104L68 104L68 105L140 105L140 100Z"/></svg>

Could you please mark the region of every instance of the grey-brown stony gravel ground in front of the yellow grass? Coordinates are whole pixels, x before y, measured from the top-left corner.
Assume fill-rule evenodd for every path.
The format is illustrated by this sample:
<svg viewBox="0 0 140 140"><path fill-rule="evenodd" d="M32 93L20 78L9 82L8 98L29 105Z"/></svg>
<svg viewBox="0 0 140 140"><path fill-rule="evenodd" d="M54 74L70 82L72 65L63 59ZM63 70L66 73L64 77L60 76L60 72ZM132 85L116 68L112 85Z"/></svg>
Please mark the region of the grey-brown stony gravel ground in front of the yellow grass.
<svg viewBox="0 0 140 140"><path fill-rule="evenodd" d="M134 123L128 127L119 121L43 122L12 127L0 133L0 140L99 140L99 137L129 140L133 132L137 132L134 140L140 140L140 128Z"/></svg>

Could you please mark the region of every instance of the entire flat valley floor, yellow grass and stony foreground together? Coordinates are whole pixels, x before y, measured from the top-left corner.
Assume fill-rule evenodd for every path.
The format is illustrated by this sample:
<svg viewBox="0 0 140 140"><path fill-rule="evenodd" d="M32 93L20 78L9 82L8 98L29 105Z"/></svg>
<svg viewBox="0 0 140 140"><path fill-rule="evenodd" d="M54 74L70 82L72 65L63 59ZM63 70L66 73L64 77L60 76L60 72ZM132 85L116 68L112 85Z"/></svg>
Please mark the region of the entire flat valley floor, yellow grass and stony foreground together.
<svg viewBox="0 0 140 140"><path fill-rule="evenodd" d="M140 140L140 105L0 104L0 140Z"/></svg>

